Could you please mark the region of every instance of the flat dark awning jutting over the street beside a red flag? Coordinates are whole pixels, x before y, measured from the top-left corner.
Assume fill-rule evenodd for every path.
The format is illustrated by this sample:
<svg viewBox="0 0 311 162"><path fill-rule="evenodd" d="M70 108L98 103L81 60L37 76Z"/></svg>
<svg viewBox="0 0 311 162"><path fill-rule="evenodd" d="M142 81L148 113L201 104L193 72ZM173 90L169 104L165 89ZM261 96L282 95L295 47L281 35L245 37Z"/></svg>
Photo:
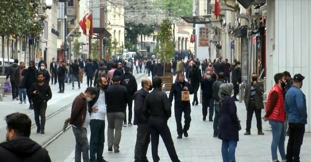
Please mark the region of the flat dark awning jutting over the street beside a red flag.
<svg viewBox="0 0 311 162"><path fill-rule="evenodd" d="M211 22L220 22L222 20L219 17L220 16L218 16L216 19L211 14L205 16L181 16L182 19L191 24L208 24Z"/></svg>

